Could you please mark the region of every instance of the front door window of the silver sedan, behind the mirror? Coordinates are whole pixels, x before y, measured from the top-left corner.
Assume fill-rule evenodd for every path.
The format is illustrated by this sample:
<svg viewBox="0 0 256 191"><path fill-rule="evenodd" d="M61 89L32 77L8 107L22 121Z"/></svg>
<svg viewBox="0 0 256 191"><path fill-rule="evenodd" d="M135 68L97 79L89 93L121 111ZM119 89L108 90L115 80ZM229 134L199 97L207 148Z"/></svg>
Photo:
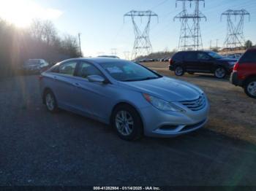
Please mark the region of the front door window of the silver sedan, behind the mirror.
<svg viewBox="0 0 256 191"><path fill-rule="evenodd" d="M99 71L99 69L97 69L95 66L91 65L90 63L80 63L77 76L87 78L91 75L99 75L102 77L101 71Z"/></svg>

